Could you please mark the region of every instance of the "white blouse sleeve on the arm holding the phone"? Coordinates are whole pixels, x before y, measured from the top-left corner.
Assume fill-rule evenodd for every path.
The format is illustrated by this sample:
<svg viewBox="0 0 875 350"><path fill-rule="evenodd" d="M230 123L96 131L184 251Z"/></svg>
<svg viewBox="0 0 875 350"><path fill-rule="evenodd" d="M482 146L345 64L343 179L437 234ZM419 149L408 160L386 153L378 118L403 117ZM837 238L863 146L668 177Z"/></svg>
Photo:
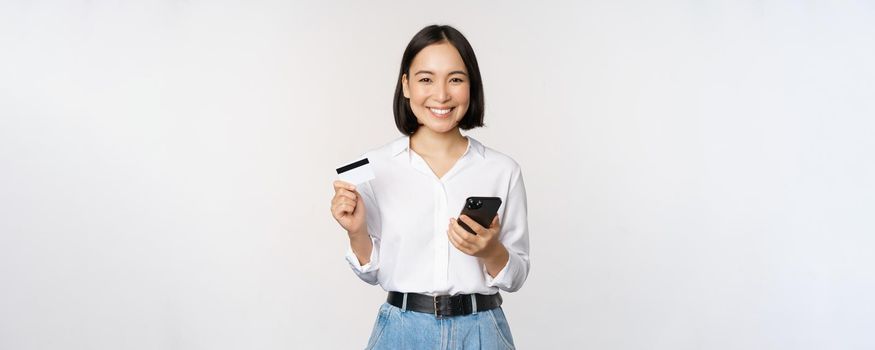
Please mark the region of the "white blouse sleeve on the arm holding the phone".
<svg viewBox="0 0 875 350"><path fill-rule="evenodd" d="M504 207L498 240L508 252L507 264L495 275L486 273L486 284L506 292L516 292L529 275L529 224L526 209L526 188L522 172L517 168L511 181ZM484 266L485 270L486 267Z"/></svg>

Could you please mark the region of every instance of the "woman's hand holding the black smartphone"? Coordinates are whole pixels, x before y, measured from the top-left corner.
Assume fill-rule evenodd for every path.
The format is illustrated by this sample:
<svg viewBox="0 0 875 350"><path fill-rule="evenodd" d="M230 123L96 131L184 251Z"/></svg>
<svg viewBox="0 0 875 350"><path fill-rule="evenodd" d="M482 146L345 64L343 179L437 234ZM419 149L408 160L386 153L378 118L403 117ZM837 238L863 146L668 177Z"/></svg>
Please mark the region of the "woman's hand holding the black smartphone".
<svg viewBox="0 0 875 350"><path fill-rule="evenodd" d="M481 226L467 215L462 215L459 219L477 233L476 235L471 234L459 225L455 218L450 218L450 227L447 230L447 235L450 238L450 242L460 251L483 259L494 259L507 254L504 245L498 241L498 234L501 232L498 215L492 219L492 224L489 225L489 228Z"/></svg>

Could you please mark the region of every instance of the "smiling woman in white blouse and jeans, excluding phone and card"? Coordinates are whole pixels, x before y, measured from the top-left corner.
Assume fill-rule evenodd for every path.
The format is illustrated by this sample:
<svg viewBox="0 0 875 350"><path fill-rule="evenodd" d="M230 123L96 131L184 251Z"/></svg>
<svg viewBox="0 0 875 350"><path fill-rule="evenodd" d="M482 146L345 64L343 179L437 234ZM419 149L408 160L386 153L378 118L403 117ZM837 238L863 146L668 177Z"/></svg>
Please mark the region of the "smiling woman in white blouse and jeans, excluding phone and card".
<svg viewBox="0 0 875 350"><path fill-rule="evenodd" d="M526 192L512 158L461 132L483 126L483 97L468 40L450 26L423 28L398 74L403 136L365 153L375 179L334 182L346 259L389 292L368 349L514 348L499 290L515 292L528 276ZM456 217L470 196L502 200L488 227Z"/></svg>

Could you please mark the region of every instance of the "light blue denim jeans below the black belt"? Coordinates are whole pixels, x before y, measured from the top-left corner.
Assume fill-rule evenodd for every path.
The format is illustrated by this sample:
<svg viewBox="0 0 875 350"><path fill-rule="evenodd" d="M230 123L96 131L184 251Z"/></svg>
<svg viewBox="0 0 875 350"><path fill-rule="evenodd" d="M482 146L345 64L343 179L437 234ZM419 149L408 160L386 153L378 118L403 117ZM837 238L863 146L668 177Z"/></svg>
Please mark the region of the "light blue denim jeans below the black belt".
<svg viewBox="0 0 875 350"><path fill-rule="evenodd" d="M384 303L367 349L513 349L501 308L436 318Z"/></svg>

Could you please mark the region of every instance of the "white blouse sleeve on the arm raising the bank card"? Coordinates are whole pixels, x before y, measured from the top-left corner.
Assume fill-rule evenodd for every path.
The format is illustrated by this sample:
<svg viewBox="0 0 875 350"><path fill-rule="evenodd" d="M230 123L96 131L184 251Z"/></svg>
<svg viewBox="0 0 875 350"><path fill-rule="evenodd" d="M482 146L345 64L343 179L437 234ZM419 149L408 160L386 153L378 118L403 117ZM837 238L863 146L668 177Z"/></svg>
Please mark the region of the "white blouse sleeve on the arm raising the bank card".
<svg viewBox="0 0 875 350"><path fill-rule="evenodd" d="M377 284L377 270L380 268L380 208L377 206L374 191L370 182L357 186L359 194L365 203L365 211L368 224L368 235L374 248L371 249L371 258L367 264L361 265L358 257L352 251L352 246L346 250L346 261L349 262L352 272L362 281L369 284Z"/></svg>

